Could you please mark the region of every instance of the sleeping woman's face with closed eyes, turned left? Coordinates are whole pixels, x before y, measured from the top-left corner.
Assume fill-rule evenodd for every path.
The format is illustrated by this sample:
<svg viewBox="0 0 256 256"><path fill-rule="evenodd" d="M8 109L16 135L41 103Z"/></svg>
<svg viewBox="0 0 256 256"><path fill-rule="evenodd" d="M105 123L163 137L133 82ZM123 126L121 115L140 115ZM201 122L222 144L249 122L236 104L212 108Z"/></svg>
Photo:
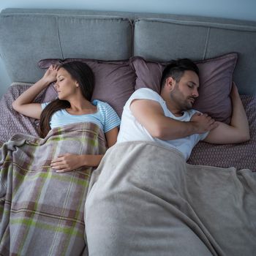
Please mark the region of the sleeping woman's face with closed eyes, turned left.
<svg viewBox="0 0 256 256"><path fill-rule="evenodd" d="M55 89L58 92L59 99L68 100L69 97L77 93L78 82L74 80L66 69L60 68L57 73Z"/></svg>

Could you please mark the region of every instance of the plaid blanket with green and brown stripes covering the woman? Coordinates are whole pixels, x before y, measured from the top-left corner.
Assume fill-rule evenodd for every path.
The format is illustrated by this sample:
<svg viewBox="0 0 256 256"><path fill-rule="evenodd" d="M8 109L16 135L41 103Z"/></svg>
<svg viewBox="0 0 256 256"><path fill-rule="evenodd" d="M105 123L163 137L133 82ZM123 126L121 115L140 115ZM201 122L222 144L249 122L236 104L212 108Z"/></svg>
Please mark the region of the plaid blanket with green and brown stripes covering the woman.
<svg viewBox="0 0 256 256"><path fill-rule="evenodd" d="M93 168L56 173L59 154L104 154L96 124L14 135L0 148L0 255L83 255L86 193Z"/></svg>

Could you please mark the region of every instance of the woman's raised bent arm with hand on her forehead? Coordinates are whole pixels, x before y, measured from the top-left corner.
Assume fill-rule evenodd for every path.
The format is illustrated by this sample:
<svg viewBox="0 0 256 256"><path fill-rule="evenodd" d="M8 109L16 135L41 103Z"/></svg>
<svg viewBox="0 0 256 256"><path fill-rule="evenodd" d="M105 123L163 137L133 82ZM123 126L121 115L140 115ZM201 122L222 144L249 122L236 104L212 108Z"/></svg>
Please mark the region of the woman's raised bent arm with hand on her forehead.
<svg viewBox="0 0 256 256"><path fill-rule="evenodd" d="M24 91L23 94L20 94L20 96L12 102L12 108L24 116L39 119L42 113L41 104L32 102L43 89L56 80L58 69L59 67L57 65L50 66L45 72L45 75L38 80L37 83Z"/></svg>

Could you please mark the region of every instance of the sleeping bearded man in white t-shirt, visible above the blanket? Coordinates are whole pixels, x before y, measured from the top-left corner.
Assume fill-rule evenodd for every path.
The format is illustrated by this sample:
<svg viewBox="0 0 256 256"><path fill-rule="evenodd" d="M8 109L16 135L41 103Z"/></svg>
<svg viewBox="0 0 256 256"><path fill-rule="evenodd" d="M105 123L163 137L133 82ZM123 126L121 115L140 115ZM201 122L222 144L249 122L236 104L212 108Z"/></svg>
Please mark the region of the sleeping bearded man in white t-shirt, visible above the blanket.
<svg viewBox="0 0 256 256"><path fill-rule="evenodd" d="M189 59L172 61L162 73L160 95L138 89L124 106L118 143L150 140L181 151L186 159L199 140L208 143L241 143L249 140L249 125L233 84L230 125L193 110L198 97L199 70Z"/></svg>

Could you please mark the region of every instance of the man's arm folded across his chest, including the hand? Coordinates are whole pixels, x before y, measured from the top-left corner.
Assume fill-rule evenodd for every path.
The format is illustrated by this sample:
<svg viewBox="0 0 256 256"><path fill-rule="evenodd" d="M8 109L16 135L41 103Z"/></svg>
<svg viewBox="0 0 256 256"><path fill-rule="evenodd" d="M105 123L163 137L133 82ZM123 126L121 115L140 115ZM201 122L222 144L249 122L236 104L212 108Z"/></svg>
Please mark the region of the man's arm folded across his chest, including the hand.
<svg viewBox="0 0 256 256"><path fill-rule="evenodd" d="M210 116L196 113L193 121L178 121L165 116L161 105L151 99L135 99L130 110L137 121L146 128L154 138L175 140L189 135L208 132L217 127Z"/></svg>

